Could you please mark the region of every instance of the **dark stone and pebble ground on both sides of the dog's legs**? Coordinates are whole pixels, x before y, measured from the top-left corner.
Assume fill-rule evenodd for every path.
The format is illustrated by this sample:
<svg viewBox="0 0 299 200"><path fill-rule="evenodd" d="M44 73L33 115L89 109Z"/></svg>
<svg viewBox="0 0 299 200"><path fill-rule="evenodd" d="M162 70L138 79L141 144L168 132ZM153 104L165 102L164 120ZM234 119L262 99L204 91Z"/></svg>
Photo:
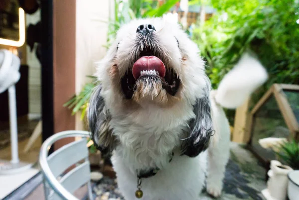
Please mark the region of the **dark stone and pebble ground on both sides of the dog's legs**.
<svg viewBox="0 0 299 200"><path fill-rule="evenodd" d="M261 191L266 188L266 170L243 145L231 143L231 156L226 167L222 195L215 199L205 190L200 200L265 200ZM104 177L93 187L96 200L123 200L114 179Z"/></svg>

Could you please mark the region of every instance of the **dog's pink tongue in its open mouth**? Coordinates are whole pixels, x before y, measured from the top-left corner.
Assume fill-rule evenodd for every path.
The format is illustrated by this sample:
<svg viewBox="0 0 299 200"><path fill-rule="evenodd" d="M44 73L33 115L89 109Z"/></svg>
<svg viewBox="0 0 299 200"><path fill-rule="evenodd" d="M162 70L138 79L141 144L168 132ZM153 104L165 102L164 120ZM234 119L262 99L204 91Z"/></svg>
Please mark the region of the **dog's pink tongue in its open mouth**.
<svg viewBox="0 0 299 200"><path fill-rule="evenodd" d="M155 70L156 72L159 72L159 75L161 77L165 76L166 69L165 65L156 56L143 56L139 58L134 64L133 64L133 77L135 79L138 79L140 76L141 71L150 71L150 70Z"/></svg>

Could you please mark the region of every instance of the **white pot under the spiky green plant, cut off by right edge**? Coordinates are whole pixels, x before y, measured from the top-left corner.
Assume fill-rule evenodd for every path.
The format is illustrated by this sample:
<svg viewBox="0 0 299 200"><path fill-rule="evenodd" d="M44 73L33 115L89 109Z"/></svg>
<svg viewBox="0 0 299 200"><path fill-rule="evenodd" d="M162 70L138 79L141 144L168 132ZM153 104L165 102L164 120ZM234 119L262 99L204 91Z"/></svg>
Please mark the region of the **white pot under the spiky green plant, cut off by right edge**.
<svg viewBox="0 0 299 200"><path fill-rule="evenodd" d="M289 200L299 199L299 170L288 173L288 197Z"/></svg>

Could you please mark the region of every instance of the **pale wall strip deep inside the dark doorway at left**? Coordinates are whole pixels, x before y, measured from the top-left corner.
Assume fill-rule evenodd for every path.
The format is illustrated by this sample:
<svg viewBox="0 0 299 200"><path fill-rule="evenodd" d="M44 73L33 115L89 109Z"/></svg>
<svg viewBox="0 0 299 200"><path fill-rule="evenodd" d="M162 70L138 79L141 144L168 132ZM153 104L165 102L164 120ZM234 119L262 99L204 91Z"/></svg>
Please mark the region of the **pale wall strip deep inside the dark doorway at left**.
<svg viewBox="0 0 299 200"><path fill-rule="evenodd" d="M26 14L26 28L28 25L40 21L40 10L34 14ZM35 55L36 45L32 52L27 48L27 64L29 66L29 118L41 115L41 65Z"/></svg>

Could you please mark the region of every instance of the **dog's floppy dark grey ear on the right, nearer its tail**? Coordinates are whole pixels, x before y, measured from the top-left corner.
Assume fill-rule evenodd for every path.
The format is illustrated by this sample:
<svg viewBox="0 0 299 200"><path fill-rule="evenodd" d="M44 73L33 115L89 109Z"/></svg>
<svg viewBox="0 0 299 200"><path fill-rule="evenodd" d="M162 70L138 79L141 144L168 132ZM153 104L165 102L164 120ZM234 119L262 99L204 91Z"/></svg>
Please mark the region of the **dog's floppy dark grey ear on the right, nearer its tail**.
<svg viewBox="0 0 299 200"><path fill-rule="evenodd" d="M204 96L196 100L193 106L195 118L189 123L190 131L182 143L182 154L195 157L209 146L210 137L213 134L213 122L211 116L210 81L206 77L207 86Z"/></svg>

